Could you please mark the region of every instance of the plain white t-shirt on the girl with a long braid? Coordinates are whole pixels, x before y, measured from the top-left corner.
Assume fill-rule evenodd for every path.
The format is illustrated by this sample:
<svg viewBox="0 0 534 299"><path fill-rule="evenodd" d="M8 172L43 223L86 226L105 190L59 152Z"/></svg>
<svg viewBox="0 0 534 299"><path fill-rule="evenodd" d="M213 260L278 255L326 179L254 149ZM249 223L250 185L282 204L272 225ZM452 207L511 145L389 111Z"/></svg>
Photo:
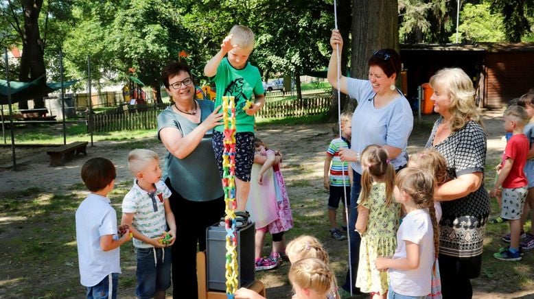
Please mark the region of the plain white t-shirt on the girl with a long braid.
<svg viewBox="0 0 534 299"><path fill-rule="evenodd" d="M426 296L431 291L434 262L434 230L426 208L411 211L402 220L393 259L406 258L405 241L419 245L419 267L414 270L388 270L391 289L404 296Z"/></svg>

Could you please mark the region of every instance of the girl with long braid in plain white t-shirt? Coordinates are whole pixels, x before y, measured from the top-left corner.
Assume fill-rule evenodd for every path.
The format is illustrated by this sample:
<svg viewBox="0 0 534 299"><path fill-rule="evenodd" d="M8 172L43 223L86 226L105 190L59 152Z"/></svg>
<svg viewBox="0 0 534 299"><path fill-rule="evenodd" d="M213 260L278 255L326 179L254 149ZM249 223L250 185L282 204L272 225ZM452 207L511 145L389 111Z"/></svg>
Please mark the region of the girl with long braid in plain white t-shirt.
<svg viewBox="0 0 534 299"><path fill-rule="evenodd" d="M388 298L425 298L431 291L432 263L439 250L439 230L434 211L434 176L408 167L395 178L395 200L406 210L397 232L393 259L378 258L378 270L388 269Z"/></svg>

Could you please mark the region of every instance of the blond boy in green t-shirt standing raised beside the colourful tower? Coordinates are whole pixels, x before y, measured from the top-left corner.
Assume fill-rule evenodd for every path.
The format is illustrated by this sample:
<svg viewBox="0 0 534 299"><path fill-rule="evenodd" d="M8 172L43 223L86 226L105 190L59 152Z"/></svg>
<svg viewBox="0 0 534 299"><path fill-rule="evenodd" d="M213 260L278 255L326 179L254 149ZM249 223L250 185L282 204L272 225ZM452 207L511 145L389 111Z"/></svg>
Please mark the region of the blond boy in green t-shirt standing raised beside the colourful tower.
<svg viewBox="0 0 534 299"><path fill-rule="evenodd" d="M235 97L235 197L237 200L235 215L240 224L248 222L245 207L248 192L251 189L251 170L254 162L254 115L265 104L262 77L257 67L247 62L253 49L254 33L252 30L242 25L235 25L228 36L222 40L220 51L207 62L204 68L204 74L207 77L213 77L213 82L216 84L216 107L222 104L223 96ZM224 150L223 130L223 125L216 126L212 139L221 177Z"/></svg>

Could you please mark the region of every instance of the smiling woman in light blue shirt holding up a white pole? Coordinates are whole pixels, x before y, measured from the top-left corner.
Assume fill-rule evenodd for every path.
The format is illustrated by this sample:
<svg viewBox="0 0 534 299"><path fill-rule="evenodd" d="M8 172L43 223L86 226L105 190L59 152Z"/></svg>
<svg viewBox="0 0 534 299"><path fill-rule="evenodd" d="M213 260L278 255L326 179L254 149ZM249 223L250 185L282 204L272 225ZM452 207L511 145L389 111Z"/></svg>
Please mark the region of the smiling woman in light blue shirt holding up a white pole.
<svg viewBox="0 0 534 299"><path fill-rule="evenodd" d="M337 71L336 47L339 47L339 50L343 48L343 38L336 29L332 30L330 45L333 51L328 66L328 82L358 102L352 116L351 149L340 150L341 159L351 162L354 175L348 229L351 237L353 277L351 281L347 272L347 279L343 285L343 290L349 291L350 286L356 283L360 253L360 235L354 231L354 224L358 219L356 206L361 189L360 153L367 145L382 145L387 150L390 163L395 170L404 168L408 136L413 128L413 113L406 97L395 87L395 80L401 69L400 57L395 50L375 51L368 62L368 80L359 80L345 77Z"/></svg>

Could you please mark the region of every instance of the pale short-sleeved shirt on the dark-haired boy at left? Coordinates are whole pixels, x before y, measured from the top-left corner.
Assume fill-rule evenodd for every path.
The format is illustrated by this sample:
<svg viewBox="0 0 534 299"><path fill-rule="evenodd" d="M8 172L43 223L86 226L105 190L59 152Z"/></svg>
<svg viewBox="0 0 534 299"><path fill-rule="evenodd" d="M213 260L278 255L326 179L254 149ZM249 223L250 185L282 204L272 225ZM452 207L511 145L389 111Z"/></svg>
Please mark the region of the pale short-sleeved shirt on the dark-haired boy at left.
<svg viewBox="0 0 534 299"><path fill-rule="evenodd" d="M104 252L100 248L100 237L117 235L117 213L110 200L94 193L76 210L76 243L80 283L85 287L97 285L111 273L121 273L120 249Z"/></svg>

